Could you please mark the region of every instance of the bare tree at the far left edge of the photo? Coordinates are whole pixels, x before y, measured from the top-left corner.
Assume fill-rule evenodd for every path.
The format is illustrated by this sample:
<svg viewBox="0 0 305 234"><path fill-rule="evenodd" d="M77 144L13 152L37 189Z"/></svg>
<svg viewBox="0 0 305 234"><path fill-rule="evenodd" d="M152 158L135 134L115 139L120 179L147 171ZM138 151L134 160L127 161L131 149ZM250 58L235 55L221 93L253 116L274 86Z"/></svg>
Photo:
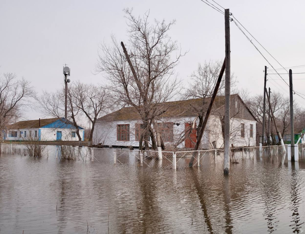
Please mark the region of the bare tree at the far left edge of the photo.
<svg viewBox="0 0 305 234"><path fill-rule="evenodd" d="M5 73L0 78L0 136L6 126L15 122L22 115L25 107L31 104L34 88L30 82L22 78L17 80L13 73Z"/></svg>

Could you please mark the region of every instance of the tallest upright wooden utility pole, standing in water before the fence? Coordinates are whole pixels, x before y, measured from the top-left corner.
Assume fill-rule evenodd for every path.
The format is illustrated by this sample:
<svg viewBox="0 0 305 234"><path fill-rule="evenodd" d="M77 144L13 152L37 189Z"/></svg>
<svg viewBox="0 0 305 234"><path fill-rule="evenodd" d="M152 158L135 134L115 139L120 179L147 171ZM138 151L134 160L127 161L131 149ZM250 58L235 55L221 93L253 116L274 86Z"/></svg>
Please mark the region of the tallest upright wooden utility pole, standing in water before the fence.
<svg viewBox="0 0 305 234"><path fill-rule="evenodd" d="M224 30L225 30L225 103L224 103L224 174L230 171L230 9L224 10Z"/></svg>

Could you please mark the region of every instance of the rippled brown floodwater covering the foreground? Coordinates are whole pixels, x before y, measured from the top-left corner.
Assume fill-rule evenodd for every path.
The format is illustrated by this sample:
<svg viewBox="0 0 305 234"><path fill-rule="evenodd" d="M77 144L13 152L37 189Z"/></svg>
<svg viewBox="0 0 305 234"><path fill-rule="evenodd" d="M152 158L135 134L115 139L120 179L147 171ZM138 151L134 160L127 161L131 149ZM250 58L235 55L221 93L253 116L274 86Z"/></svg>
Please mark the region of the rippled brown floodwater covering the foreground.
<svg viewBox="0 0 305 234"><path fill-rule="evenodd" d="M0 156L0 233L303 233L305 162L160 169Z"/></svg>

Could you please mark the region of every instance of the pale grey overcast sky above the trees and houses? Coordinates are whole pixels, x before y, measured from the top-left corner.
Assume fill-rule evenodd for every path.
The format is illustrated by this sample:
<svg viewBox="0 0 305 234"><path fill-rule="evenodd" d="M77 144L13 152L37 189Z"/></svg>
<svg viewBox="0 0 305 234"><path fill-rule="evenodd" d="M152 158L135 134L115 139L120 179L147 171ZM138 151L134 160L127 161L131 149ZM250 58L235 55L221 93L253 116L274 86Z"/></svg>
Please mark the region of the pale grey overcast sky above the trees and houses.
<svg viewBox="0 0 305 234"><path fill-rule="evenodd" d="M208 0L212 2L211 0ZM305 64L305 1L217 0L284 67ZM213 2L212 2L213 3ZM214 3L215 4L215 3ZM150 10L150 19L176 19L169 34L188 54L177 67L179 77L188 76L199 62L224 59L224 15L200 0L155 1L0 1L0 73L12 72L30 80L38 92L56 90L63 80L63 65L71 69L70 80L105 83L102 75L92 74L99 43L110 43L110 34L127 41L123 8L134 8L135 15ZM231 27L231 72L251 94L263 92L264 58L246 39L234 22ZM254 42L254 41L253 41ZM256 43L256 42L254 42ZM256 43L257 44L257 43ZM264 52L274 68L280 66ZM284 73L281 70L279 73ZM305 72L305 67L293 69ZM272 73L272 72L270 72ZM270 79L280 79L274 75ZM288 79L288 75L282 75ZM305 94L305 74L296 74L294 89ZM288 96L289 87L281 80L270 80L267 87ZM277 82L278 84L276 84ZM289 81L287 80L287 83ZM296 100L305 106L305 100ZM29 111L28 119L38 119Z"/></svg>

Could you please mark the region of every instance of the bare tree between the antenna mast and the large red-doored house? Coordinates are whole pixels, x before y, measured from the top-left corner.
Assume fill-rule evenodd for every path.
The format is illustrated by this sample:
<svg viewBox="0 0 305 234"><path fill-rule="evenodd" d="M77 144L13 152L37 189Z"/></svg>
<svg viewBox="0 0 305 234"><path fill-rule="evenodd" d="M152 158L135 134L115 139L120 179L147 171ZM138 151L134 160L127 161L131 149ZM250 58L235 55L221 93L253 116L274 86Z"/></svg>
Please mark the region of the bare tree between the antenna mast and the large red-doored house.
<svg viewBox="0 0 305 234"><path fill-rule="evenodd" d="M92 146L92 137L96 120L103 114L109 105L109 98L103 87L93 84L76 82L71 87L71 93L75 98L75 105L91 122L89 146Z"/></svg>

